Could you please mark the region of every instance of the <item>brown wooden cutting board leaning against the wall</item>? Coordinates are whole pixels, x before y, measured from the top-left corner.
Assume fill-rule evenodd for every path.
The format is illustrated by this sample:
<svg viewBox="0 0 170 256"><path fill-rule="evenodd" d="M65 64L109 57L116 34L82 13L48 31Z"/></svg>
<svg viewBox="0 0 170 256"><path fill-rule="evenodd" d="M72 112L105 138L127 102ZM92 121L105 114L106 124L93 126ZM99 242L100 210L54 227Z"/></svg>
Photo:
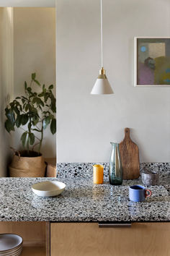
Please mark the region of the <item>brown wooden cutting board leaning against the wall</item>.
<svg viewBox="0 0 170 256"><path fill-rule="evenodd" d="M125 138L120 142L120 156L123 179L138 179L140 176L139 150L138 146L130 139L129 128L125 128Z"/></svg>

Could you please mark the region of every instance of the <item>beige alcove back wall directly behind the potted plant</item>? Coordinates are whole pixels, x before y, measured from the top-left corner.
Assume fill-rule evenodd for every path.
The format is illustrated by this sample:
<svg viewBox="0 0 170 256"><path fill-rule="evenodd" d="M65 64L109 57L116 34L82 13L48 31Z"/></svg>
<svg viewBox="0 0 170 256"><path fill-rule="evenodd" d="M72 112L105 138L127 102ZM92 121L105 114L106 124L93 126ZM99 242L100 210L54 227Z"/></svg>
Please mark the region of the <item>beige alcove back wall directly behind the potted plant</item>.
<svg viewBox="0 0 170 256"><path fill-rule="evenodd" d="M14 97L24 92L32 72L55 87L55 8L14 8ZM21 135L21 130L14 133L14 148L21 147ZM55 147L56 135L45 129L42 154L55 157Z"/></svg>

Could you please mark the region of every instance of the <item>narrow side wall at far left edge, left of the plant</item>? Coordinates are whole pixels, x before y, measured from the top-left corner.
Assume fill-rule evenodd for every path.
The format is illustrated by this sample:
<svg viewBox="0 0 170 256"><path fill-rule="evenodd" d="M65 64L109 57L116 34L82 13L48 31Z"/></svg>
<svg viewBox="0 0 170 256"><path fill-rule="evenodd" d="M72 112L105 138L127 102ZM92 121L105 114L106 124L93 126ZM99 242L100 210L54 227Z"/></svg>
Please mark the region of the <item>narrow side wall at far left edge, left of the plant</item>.
<svg viewBox="0 0 170 256"><path fill-rule="evenodd" d="M6 176L12 137L4 129L4 109L13 94L13 12L0 8L0 176Z"/></svg>

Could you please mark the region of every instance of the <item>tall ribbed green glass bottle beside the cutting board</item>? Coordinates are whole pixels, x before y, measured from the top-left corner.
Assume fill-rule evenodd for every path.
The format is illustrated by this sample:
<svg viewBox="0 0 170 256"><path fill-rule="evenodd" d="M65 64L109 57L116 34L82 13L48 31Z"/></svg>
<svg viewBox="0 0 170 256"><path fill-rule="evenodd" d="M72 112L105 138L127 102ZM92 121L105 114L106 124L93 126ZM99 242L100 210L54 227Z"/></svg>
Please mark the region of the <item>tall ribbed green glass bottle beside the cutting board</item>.
<svg viewBox="0 0 170 256"><path fill-rule="evenodd" d="M112 152L109 160L109 183L112 185L122 184L122 161L120 158L119 143L110 142Z"/></svg>

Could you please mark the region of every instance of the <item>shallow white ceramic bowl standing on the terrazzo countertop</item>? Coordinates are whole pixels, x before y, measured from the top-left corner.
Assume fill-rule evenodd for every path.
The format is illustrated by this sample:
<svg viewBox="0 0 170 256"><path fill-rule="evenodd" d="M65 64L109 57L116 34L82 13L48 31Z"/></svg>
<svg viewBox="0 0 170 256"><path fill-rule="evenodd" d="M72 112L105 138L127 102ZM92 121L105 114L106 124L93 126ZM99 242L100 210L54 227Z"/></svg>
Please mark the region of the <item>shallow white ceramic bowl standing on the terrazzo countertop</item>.
<svg viewBox="0 0 170 256"><path fill-rule="evenodd" d="M63 182L47 181L32 185L32 191L39 197L55 197L60 195L66 188Z"/></svg>

